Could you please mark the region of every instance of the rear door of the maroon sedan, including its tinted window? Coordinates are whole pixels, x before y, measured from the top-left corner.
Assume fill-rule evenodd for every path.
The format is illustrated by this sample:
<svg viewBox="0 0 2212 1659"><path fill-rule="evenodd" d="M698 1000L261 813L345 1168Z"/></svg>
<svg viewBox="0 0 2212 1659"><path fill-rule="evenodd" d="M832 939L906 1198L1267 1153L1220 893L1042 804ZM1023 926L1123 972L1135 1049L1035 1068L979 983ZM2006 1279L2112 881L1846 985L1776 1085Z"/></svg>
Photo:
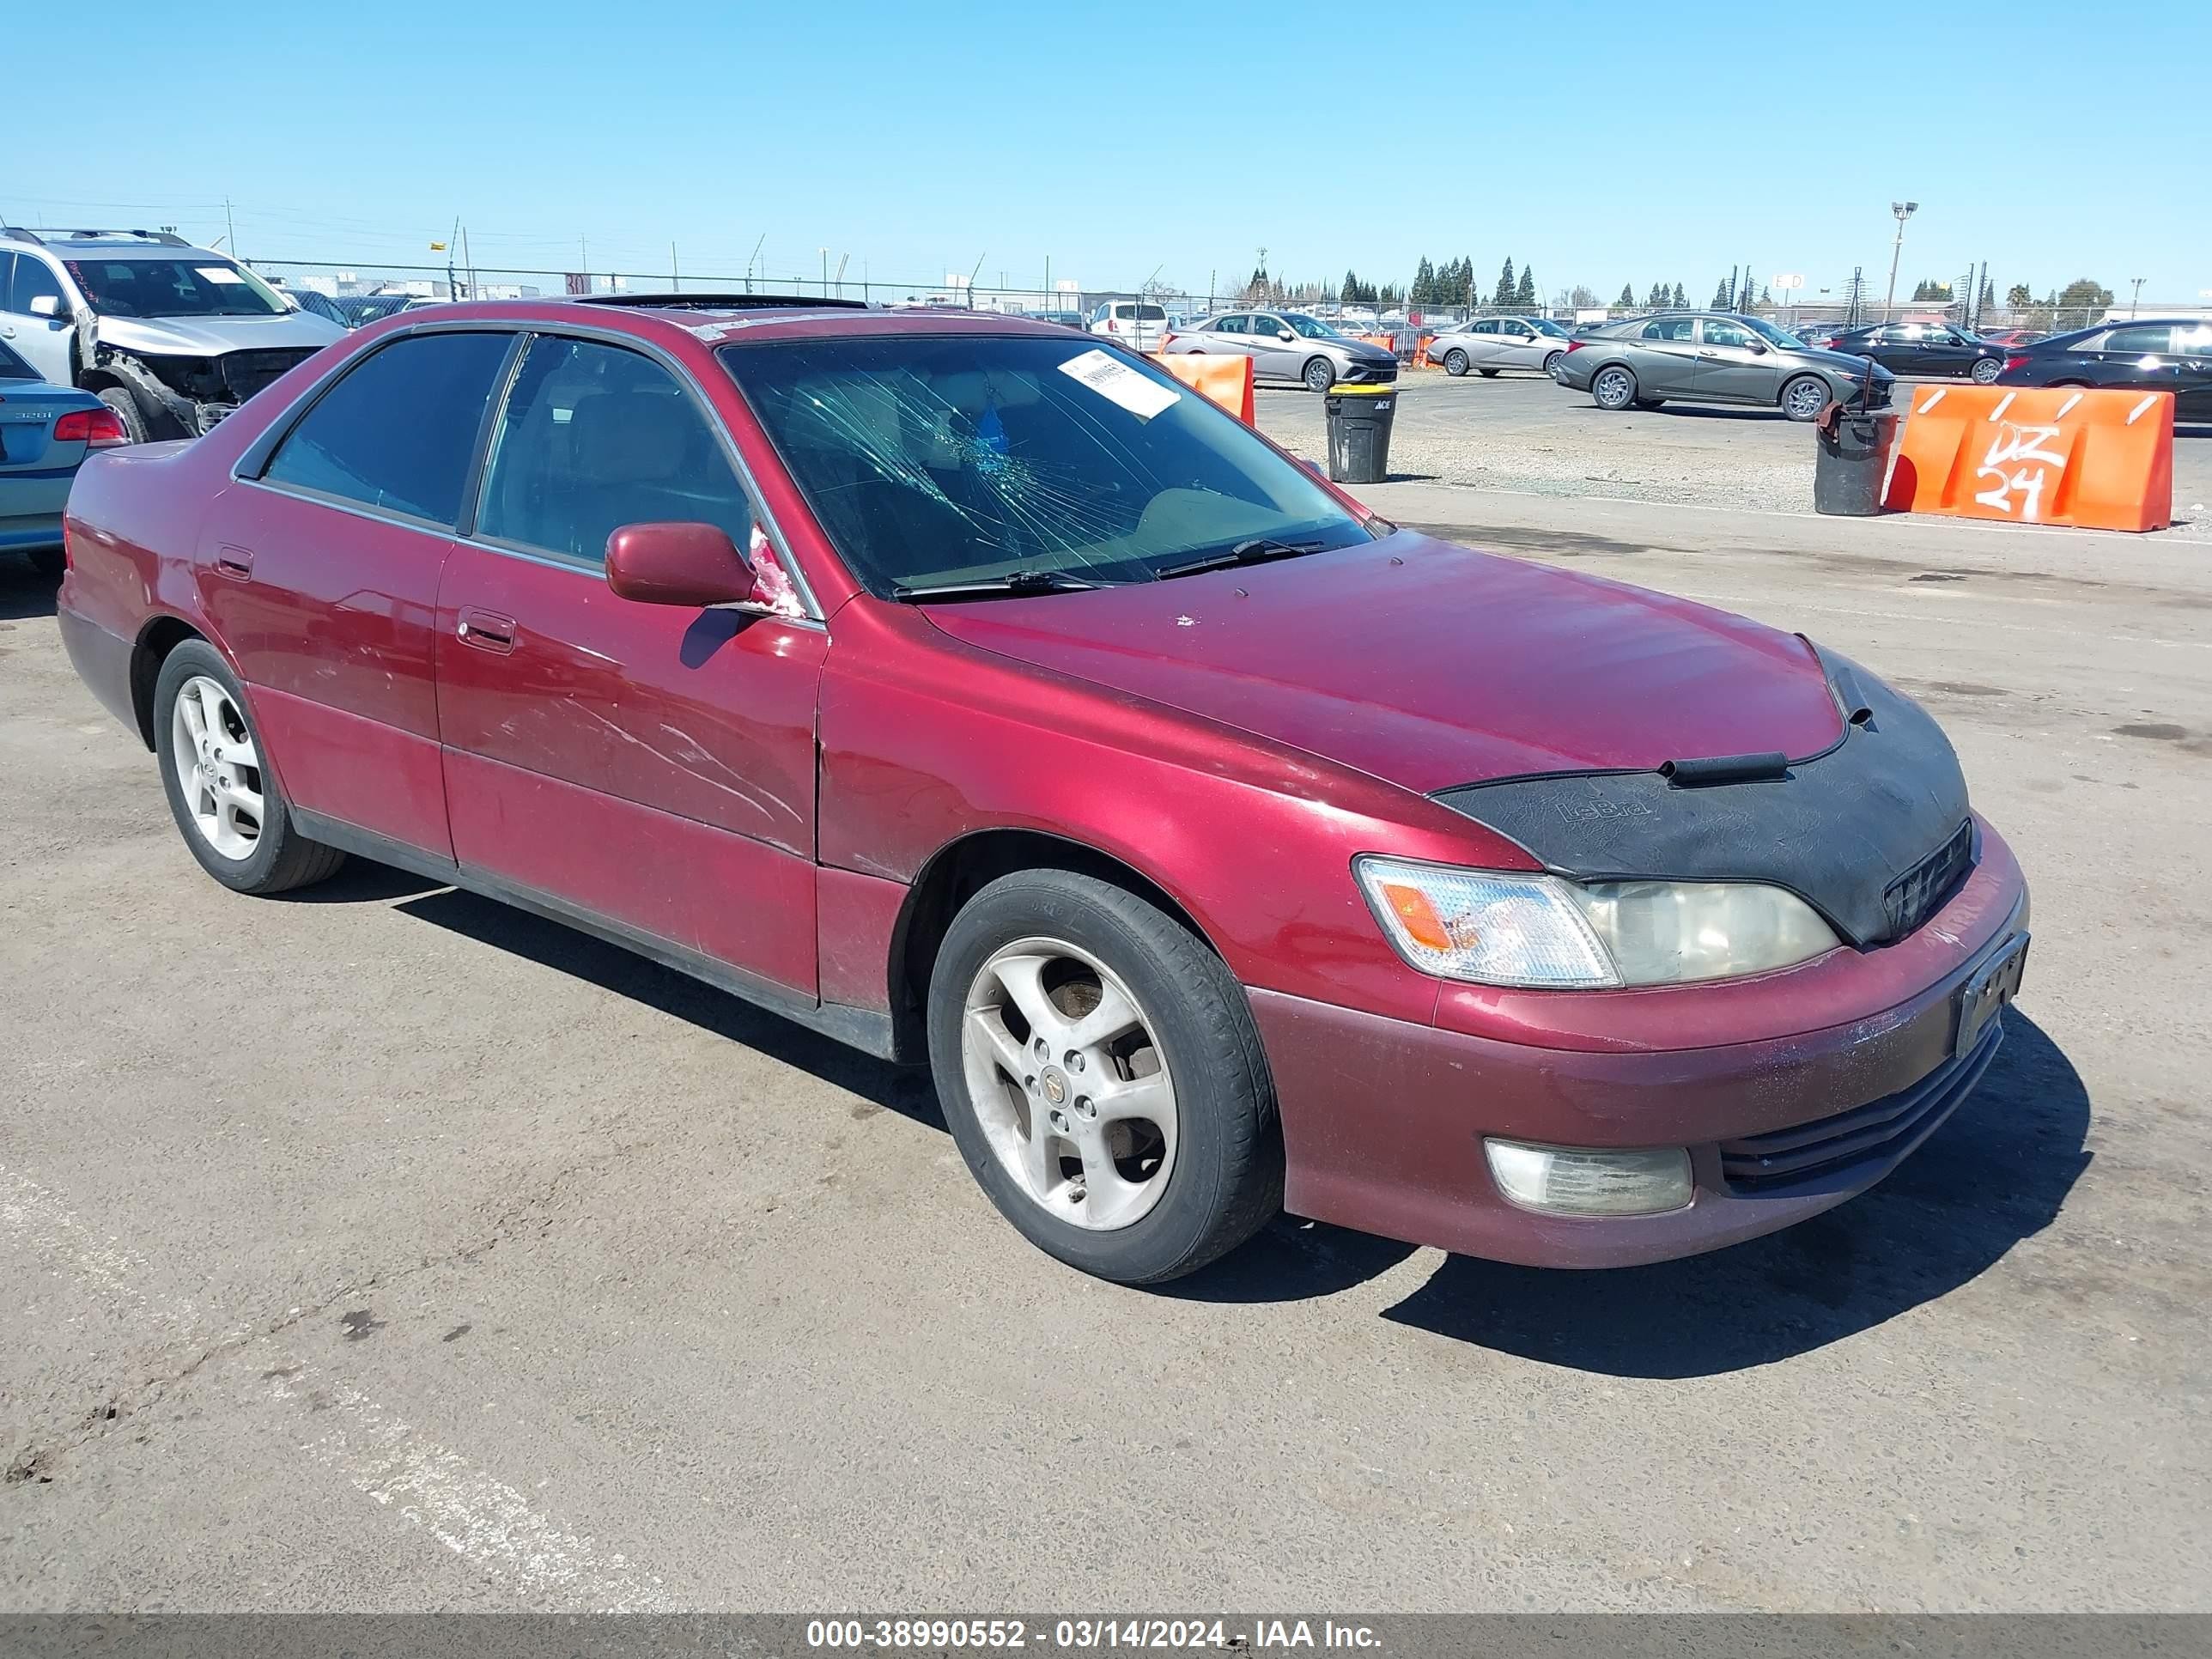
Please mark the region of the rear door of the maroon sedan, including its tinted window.
<svg viewBox="0 0 2212 1659"><path fill-rule="evenodd" d="M440 858L438 577L515 341L436 330L361 354L248 449L195 549L292 803Z"/></svg>

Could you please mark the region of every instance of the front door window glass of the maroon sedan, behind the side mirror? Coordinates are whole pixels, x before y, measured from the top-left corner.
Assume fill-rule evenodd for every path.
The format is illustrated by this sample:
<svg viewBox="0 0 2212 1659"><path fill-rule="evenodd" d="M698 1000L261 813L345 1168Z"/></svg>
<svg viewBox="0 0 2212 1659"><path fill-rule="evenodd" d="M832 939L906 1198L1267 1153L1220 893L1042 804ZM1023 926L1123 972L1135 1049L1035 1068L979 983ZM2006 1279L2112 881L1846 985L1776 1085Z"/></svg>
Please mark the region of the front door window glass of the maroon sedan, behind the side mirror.
<svg viewBox="0 0 2212 1659"><path fill-rule="evenodd" d="M699 407L653 358L538 336L500 416L476 533L602 564L624 524L714 524L737 546L752 502Z"/></svg>

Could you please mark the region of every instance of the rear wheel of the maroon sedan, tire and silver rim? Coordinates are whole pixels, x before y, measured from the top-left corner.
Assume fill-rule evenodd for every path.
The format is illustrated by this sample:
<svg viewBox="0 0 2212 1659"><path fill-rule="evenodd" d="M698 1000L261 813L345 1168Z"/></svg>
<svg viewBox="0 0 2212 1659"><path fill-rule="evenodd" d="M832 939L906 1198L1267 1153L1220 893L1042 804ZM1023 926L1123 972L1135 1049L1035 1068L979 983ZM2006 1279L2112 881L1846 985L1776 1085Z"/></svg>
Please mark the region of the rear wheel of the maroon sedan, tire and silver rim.
<svg viewBox="0 0 2212 1659"><path fill-rule="evenodd" d="M179 701L190 701L190 710L179 710ZM208 737L197 757L190 748L195 723ZM181 765L179 737L186 743ZM228 754L226 743L230 745ZM248 745L252 761L237 761L239 743ZM184 845L192 849L199 867L230 891L283 894L292 887L327 880L345 863L343 852L325 847L321 841L307 841L292 827L292 812L283 790L276 787L276 774L263 763L261 732L246 714L246 692L239 688L239 677L206 639L186 639L161 661L161 675L153 688L153 745L161 763L161 790L168 794L168 810L177 818ZM210 787L195 790L190 801L186 799L186 768L195 776L210 779ZM230 790L215 790L215 776L228 779ZM226 803L246 799L254 803L254 812L248 814L232 805L226 821ZM199 801L208 803L206 818L199 816ZM246 832L248 821L252 823L250 834Z"/></svg>

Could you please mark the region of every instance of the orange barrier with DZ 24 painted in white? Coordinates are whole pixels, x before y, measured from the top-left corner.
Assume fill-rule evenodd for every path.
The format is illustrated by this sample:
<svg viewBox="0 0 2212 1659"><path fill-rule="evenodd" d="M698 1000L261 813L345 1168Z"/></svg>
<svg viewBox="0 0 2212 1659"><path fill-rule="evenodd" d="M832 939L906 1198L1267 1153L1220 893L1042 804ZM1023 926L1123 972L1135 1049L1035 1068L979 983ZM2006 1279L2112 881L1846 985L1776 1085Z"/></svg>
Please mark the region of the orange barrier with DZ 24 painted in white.
<svg viewBox="0 0 2212 1659"><path fill-rule="evenodd" d="M1909 392L1891 511L2090 531L2163 531L2174 518L2172 392Z"/></svg>

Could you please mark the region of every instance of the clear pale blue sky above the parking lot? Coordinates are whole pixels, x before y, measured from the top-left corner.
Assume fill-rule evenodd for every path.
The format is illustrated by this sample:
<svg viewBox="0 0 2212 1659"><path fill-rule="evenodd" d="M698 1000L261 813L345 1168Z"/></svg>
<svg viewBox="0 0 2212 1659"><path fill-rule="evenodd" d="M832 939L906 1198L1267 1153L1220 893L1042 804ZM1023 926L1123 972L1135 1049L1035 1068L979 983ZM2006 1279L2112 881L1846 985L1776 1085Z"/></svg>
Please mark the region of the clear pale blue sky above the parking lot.
<svg viewBox="0 0 2212 1659"><path fill-rule="evenodd" d="M1203 290L1265 246L1292 281L1469 254L1484 285L1511 257L1559 294L1703 301L1750 261L1809 299L1854 263L1878 292L1911 197L1900 292L1980 259L2000 292L2212 290L2205 0L2106 40L2079 0L1849 9L1874 51L1809 4L106 0L97 40L11 11L18 93L44 64L84 104L29 104L46 137L11 146L0 212L212 239L228 197L250 259L434 261L458 215L478 265L575 268L582 239L593 270L666 272L675 241L686 276L743 272L765 234L776 276L830 248L909 285L1051 259Z"/></svg>

